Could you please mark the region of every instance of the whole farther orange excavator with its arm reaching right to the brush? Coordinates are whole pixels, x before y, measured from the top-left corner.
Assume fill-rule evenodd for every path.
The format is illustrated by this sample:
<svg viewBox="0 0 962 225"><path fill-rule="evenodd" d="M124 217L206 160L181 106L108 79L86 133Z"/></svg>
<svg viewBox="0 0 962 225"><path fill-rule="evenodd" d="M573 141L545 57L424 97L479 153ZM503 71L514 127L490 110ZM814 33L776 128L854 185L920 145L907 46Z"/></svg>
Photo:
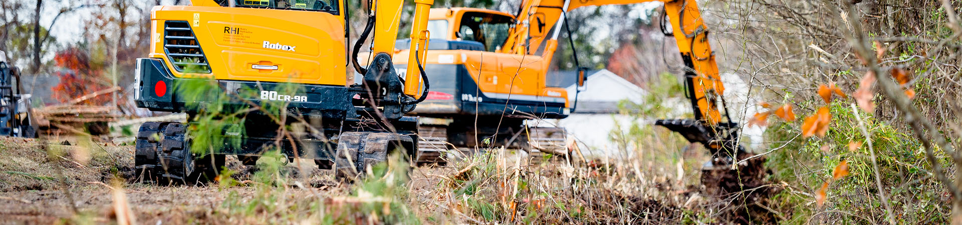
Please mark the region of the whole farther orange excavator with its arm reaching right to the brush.
<svg viewBox="0 0 962 225"><path fill-rule="evenodd" d="M432 149L443 152L479 145L564 151L564 147L557 149L565 143L563 130L529 127L524 121L565 118L576 109L577 97L569 99L564 87L549 87L546 82L559 34L570 35L570 30L562 30L567 27L563 26L567 13L587 6L644 2L665 4L671 29L663 30L675 38L685 63L686 95L695 112L694 119L662 119L655 124L702 143L716 156L716 163L730 162L744 150L735 140L738 124L728 116L709 31L695 0L524 0L515 14L431 9L427 30L435 39L430 40L431 51L422 66L432 81L431 89L413 112L424 122L420 148L428 159L421 161L443 160L437 159L440 154L431 154ZM569 43L573 49L573 42ZM399 49L395 66L406 66L396 59L410 53L410 49ZM580 91L588 69L574 55Z"/></svg>

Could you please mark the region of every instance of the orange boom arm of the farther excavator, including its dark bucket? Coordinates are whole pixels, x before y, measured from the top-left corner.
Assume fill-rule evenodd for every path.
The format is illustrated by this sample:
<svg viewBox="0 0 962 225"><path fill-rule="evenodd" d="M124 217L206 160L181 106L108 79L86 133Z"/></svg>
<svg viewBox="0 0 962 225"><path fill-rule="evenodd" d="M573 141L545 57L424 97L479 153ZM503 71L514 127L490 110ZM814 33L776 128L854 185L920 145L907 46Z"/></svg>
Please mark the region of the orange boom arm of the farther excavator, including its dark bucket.
<svg viewBox="0 0 962 225"><path fill-rule="evenodd" d="M659 120L656 124L668 127L690 141L703 143L713 154L722 149L742 151L742 147L733 140L737 137L737 124L727 118L727 112L724 113L725 122L722 122L720 105L724 109L724 86L708 42L709 31L696 0L525 0L516 16L518 22L504 45L507 47L501 51L519 55L540 54L544 60L550 61L557 48L566 13L586 6L645 2L665 4L665 15L671 23L672 36L685 63L687 95L695 112L694 120Z"/></svg>

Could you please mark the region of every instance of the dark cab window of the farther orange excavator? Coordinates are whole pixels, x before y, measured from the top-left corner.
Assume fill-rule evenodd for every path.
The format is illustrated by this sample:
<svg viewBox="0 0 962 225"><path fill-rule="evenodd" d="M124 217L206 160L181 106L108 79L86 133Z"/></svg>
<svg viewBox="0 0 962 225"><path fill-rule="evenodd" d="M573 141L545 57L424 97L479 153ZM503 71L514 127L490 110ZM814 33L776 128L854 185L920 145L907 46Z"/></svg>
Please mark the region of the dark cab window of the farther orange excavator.
<svg viewBox="0 0 962 225"><path fill-rule="evenodd" d="M514 24L511 17L489 13L465 13L461 17L456 36L484 44L485 51L501 49L508 39L508 30Z"/></svg>

